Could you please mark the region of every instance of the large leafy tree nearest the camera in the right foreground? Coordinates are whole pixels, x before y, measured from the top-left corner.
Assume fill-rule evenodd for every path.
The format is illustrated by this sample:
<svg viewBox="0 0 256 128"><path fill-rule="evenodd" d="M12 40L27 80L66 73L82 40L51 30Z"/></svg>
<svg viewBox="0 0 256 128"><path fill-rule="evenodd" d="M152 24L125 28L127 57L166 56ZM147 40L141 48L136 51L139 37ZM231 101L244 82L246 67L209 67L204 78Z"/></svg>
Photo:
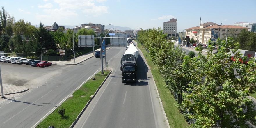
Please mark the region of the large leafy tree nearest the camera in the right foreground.
<svg viewBox="0 0 256 128"><path fill-rule="evenodd" d="M214 127L217 122L220 128L249 127L246 121L256 125L255 105L248 98L256 91L256 63L240 63L239 58L246 59L241 54L234 54L237 61L231 63L231 53L238 51L238 43L226 51L234 45L231 40L227 45L224 40L216 42L221 46L218 54L213 54L213 42L209 42L207 55L199 51L197 57L184 60L183 65L190 65L186 75L192 82L187 88L191 93L186 94L182 105L192 113L189 118L196 119L193 127Z"/></svg>

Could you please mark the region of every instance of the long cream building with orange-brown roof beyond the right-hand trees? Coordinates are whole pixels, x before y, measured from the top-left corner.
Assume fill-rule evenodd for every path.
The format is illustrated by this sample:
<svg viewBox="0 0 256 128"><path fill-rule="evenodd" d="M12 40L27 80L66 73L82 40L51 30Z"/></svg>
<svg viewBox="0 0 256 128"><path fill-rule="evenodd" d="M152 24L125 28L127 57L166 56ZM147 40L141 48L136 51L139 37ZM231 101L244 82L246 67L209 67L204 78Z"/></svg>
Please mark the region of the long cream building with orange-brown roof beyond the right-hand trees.
<svg viewBox="0 0 256 128"><path fill-rule="evenodd" d="M207 44L209 39L216 41L218 37L220 37L220 39L226 39L228 36L237 36L243 29L248 31L249 28L234 25L218 25L213 22L207 22L185 30L186 36L189 36L190 39L193 38L197 40L198 43Z"/></svg>

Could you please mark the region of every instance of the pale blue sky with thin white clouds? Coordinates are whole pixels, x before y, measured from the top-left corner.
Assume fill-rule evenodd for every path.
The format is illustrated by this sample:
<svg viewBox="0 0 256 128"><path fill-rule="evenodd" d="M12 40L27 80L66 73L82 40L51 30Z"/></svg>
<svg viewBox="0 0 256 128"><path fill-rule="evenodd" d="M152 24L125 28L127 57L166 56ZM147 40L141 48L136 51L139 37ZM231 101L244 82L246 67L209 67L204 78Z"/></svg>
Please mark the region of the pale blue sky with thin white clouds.
<svg viewBox="0 0 256 128"><path fill-rule="evenodd" d="M51 26L109 24L131 29L163 29L163 22L177 18L177 31L205 22L233 25L235 22L256 22L256 0L0 0L15 18L32 25L40 22Z"/></svg>

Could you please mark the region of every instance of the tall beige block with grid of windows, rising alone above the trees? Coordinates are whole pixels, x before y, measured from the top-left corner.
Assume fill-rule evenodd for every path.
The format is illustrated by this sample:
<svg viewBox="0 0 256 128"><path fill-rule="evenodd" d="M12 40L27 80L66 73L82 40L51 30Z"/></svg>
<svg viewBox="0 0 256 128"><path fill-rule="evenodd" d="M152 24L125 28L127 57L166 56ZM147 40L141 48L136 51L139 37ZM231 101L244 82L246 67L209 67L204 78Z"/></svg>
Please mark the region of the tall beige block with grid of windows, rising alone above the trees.
<svg viewBox="0 0 256 128"><path fill-rule="evenodd" d="M163 22L163 33L167 33L167 36L175 36L177 32L177 19L170 19L170 21ZM178 34L176 34L177 36Z"/></svg>

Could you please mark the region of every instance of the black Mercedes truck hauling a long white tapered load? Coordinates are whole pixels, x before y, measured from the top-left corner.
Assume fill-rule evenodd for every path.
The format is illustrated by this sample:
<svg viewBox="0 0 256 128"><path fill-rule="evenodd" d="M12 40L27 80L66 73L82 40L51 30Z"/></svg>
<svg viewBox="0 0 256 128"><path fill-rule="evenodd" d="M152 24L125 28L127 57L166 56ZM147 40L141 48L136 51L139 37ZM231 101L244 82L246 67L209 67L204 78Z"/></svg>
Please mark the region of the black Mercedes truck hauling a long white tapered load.
<svg viewBox="0 0 256 128"><path fill-rule="evenodd" d="M137 48L133 43L130 43L128 49L121 58L120 70L122 71L122 83L137 81L136 72L138 70L138 54Z"/></svg>

